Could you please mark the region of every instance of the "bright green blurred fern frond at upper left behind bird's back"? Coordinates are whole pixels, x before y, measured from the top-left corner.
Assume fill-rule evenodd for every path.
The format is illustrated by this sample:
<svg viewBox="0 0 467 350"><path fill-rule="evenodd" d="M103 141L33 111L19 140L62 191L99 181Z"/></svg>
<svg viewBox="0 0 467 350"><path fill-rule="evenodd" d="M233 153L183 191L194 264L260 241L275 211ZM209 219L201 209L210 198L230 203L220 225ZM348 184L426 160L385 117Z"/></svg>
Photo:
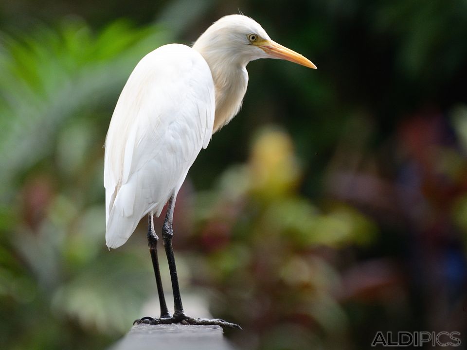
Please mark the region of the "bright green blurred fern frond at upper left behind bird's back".
<svg viewBox="0 0 467 350"><path fill-rule="evenodd" d="M93 141L95 137L101 140L102 124L108 119L100 113L102 107L115 103L139 59L166 40L167 34L157 27L132 29L122 20L99 34L83 22L65 21L58 30L39 27L32 36L1 35L3 197L11 194L8 189L14 175L51 153L67 121L79 119L78 123L91 132L99 130ZM83 119L87 121L83 123ZM71 152L67 149L75 146L68 145L63 152Z"/></svg>

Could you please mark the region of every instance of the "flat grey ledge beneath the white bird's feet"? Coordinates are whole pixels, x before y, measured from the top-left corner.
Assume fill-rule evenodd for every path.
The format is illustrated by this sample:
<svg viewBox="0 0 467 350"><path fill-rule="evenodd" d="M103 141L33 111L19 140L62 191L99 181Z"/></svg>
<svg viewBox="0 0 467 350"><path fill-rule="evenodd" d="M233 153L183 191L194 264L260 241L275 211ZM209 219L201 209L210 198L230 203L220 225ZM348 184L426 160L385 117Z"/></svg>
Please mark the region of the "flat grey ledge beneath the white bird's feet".
<svg viewBox="0 0 467 350"><path fill-rule="evenodd" d="M109 350L234 350L219 326L137 325Z"/></svg>

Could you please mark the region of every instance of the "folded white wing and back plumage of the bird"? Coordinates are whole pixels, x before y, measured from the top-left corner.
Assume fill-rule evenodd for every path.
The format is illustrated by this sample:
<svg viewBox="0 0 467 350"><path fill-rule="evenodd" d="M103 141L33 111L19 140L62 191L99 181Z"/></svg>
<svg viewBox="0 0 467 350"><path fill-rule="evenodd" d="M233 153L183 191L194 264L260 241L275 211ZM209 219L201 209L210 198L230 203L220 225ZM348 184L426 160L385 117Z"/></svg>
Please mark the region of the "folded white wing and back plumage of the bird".
<svg viewBox="0 0 467 350"><path fill-rule="evenodd" d="M202 56L170 44L148 53L118 99L106 139L106 242L117 248L149 211L161 214L206 148L215 89Z"/></svg>

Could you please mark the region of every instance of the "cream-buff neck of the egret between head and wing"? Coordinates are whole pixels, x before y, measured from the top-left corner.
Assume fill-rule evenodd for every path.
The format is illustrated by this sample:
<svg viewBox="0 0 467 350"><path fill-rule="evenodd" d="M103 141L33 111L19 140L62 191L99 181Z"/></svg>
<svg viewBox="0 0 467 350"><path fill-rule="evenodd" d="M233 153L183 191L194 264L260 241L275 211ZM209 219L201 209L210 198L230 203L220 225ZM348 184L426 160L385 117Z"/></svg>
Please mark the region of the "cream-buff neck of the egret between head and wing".
<svg viewBox="0 0 467 350"><path fill-rule="evenodd" d="M196 46L194 47L196 49ZM216 112L213 133L229 123L240 111L242 100L247 91L248 61L238 61L234 54L199 53L208 63L216 88ZM236 59L237 58L237 59Z"/></svg>

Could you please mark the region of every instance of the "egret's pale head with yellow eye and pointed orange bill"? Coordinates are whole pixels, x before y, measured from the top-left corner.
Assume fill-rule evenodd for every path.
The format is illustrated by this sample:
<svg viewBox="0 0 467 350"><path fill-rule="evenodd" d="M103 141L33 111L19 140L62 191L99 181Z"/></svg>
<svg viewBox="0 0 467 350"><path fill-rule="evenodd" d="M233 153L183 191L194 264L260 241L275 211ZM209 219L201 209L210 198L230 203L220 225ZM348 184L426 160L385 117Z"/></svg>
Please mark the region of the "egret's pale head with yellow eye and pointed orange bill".
<svg viewBox="0 0 467 350"><path fill-rule="evenodd" d="M242 65L259 58L278 58L317 68L301 54L271 40L259 23L243 15L220 18L198 38L193 48L205 57L222 57Z"/></svg>

